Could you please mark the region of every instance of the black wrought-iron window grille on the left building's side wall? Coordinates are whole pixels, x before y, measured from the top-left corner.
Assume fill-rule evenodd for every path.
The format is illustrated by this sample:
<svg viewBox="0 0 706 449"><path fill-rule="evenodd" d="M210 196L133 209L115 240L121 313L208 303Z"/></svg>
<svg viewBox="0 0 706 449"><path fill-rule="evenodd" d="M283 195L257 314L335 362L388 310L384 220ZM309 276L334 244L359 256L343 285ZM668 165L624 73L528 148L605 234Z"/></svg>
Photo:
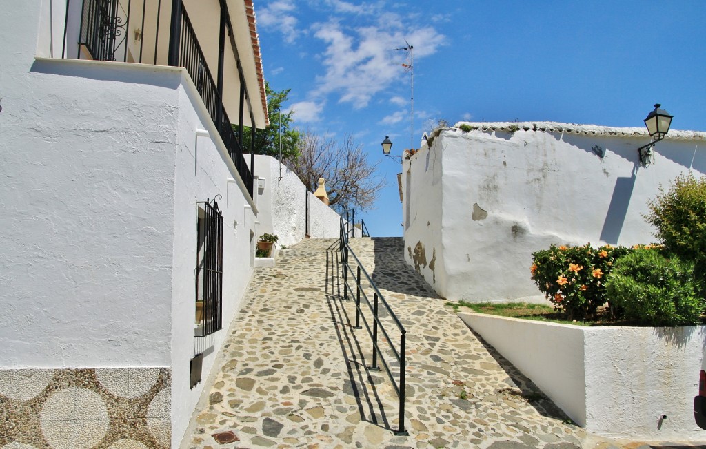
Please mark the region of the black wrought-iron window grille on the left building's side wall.
<svg viewBox="0 0 706 449"><path fill-rule="evenodd" d="M218 195L220 196L220 195ZM213 202L213 204L211 204ZM215 199L199 202L196 248L196 324L198 336L222 328L223 216Z"/></svg>

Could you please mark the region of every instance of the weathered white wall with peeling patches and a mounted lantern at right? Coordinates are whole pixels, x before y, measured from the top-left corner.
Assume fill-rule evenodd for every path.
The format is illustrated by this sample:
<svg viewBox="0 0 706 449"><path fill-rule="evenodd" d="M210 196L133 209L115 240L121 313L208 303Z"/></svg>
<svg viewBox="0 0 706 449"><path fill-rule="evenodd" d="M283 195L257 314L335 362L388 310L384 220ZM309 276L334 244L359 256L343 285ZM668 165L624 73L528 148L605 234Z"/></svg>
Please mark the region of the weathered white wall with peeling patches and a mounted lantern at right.
<svg viewBox="0 0 706 449"><path fill-rule="evenodd" d="M403 161L403 194L412 192L403 198L405 258L450 300L541 300L532 252L552 243L652 242L647 199L679 173L706 171L705 133L671 131L656 145L656 163L643 168L645 130L515 125L515 133L447 128ZM564 128L582 131L557 130ZM593 147L605 150L603 159ZM427 261L436 251L433 271L414 261L419 242Z"/></svg>

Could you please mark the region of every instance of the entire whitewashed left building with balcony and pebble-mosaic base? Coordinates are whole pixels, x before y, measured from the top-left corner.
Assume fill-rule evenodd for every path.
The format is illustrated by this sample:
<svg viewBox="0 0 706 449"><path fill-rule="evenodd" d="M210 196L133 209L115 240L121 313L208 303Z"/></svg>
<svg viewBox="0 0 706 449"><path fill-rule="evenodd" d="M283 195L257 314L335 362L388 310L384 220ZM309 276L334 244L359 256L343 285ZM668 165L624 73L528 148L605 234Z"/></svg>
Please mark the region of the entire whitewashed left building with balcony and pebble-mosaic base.
<svg viewBox="0 0 706 449"><path fill-rule="evenodd" d="M177 447L253 270L252 1L3 4L0 446Z"/></svg>

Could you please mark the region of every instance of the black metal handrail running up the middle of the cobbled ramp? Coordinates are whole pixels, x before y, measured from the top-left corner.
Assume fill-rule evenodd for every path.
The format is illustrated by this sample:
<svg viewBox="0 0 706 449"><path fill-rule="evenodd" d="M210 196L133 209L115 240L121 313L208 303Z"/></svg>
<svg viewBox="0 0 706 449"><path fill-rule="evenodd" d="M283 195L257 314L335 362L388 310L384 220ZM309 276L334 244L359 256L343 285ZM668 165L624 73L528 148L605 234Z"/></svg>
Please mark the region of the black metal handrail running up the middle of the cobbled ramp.
<svg viewBox="0 0 706 449"><path fill-rule="evenodd" d="M349 293L355 297L356 314L355 314L355 326L354 328L360 329L361 322L365 325L366 330L373 342L373 357L372 363L369 369L373 371L379 371L378 358L382 362L382 367L385 369L385 373L388 375L390 382L393 385L397 398L399 399L400 405L400 427L395 431L396 435L408 435L405 431L405 369L407 367L407 330L405 326L402 326L400 319L390 308L390 305L385 301L385 297L380 293L377 286L373 282L373 279L368 274L366 269L364 269L363 264L361 264L360 259L353 252L348 243L348 229L347 222L344 222L341 217L340 220L340 238L339 238L339 250L341 254L341 267L343 279L343 300L348 300ZM352 271L351 265L349 264L349 257L353 257L356 264L356 276L353 276L352 280L355 283L355 290L351 288L348 281L348 274ZM361 285L361 275L364 276L365 281L369 284L369 288L373 291L373 302L371 303L370 298L366 294L363 286ZM361 309L361 299L365 301L369 312L372 313L372 326L366 318L363 310ZM383 307L381 311L380 307ZM389 316L392 319L394 327L397 329L400 335L400 345L399 349L395 347L393 343L393 338L390 337L390 331L385 329L385 322L381 320L383 314ZM389 322L388 322L389 326ZM381 338L382 337L382 338ZM395 374L390 367L390 363L385 359L385 351L381 350L381 343L386 343L388 350L392 352L393 357L399 365L400 372L397 374L397 379L395 379Z"/></svg>

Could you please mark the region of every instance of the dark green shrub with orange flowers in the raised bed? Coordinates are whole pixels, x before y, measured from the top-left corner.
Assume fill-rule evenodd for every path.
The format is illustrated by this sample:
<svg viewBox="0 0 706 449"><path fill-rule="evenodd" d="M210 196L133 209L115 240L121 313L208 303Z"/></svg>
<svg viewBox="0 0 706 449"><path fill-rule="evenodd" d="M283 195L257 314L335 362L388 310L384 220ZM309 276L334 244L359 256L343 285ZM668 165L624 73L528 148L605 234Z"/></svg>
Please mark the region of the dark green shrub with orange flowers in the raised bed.
<svg viewBox="0 0 706 449"><path fill-rule="evenodd" d="M603 245L551 245L549 250L532 253L532 280L554 309L568 319L586 319L606 303L605 278L618 257L632 250Z"/></svg>

